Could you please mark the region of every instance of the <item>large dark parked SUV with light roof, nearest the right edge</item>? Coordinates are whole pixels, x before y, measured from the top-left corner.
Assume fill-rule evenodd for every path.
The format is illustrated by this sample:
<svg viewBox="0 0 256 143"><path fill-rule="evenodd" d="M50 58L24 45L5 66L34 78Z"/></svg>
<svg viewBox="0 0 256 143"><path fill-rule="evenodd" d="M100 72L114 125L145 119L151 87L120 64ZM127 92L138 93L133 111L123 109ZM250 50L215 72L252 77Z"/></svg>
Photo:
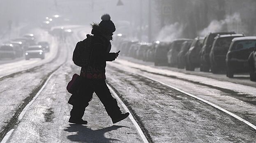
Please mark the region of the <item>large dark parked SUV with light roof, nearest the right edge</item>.
<svg viewBox="0 0 256 143"><path fill-rule="evenodd" d="M233 38L226 55L226 76L233 78L237 73L249 73L248 58L256 45L256 36Z"/></svg>

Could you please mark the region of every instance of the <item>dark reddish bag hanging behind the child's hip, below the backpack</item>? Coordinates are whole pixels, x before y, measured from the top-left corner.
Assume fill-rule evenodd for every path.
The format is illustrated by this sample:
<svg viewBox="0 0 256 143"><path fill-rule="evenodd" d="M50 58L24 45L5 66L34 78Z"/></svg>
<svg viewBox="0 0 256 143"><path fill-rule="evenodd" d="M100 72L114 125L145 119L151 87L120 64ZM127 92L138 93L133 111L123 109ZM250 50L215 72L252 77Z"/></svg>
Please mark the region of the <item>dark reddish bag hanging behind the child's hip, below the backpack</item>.
<svg viewBox="0 0 256 143"><path fill-rule="evenodd" d="M74 74L72 79L67 84L67 91L71 94L78 92L78 89L83 81L83 78L78 74Z"/></svg>

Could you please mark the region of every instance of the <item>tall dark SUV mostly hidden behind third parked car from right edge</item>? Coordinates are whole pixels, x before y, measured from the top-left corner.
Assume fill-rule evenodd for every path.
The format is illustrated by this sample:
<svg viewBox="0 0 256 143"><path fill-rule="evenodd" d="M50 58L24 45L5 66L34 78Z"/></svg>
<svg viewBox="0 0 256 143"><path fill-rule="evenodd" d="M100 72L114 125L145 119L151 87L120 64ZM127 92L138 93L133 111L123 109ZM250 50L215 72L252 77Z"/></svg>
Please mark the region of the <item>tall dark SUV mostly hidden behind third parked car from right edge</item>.
<svg viewBox="0 0 256 143"><path fill-rule="evenodd" d="M200 71L210 71L210 51L212 43L217 35L235 34L235 32L215 32L208 34L203 42L203 47L200 51Z"/></svg>

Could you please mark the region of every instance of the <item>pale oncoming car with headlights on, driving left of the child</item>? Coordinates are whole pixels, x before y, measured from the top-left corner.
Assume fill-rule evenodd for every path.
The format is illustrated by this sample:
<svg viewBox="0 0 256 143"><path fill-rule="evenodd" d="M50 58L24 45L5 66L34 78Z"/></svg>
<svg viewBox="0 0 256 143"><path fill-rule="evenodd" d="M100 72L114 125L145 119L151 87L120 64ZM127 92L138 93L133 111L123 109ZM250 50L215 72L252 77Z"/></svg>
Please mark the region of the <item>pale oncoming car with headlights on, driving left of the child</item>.
<svg viewBox="0 0 256 143"><path fill-rule="evenodd" d="M41 58L44 59L44 50L41 45L29 46L25 51L25 60L30 58Z"/></svg>

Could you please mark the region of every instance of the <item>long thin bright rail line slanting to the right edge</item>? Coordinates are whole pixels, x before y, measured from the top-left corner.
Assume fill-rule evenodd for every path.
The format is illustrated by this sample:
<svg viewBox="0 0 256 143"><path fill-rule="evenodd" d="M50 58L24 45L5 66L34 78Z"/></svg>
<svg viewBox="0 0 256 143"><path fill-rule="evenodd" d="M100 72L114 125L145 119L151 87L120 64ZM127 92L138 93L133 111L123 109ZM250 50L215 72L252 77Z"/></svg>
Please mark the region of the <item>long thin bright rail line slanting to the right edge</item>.
<svg viewBox="0 0 256 143"><path fill-rule="evenodd" d="M198 100L200 100L200 101L203 101L204 103L209 104L209 105L211 105L211 106L213 106L213 107L215 107L215 108L217 108L217 109L219 109L219 110L221 110L221 111L223 111L223 112L225 112L225 113L227 113L227 114L233 116L234 118L236 118L236 119L238 119L238 120L240 120L240 121L246 123L246 124L249 125L250 127L254 128L254 130L256 130L256 126L253 125L252 123L250 123L250 122L244 120L243 118L241 118L241 117L239 117L239 116L237 116L237 115L235 115L235 114L233 114L233 113L227 111L226 109L223 109L223 108L221 108L221 107L219 107L219 106L217 106L217 105L215 105L215 104L213 104L213 103L211 103L211 102L209 102L209 101L206 101L206 100L204 100L204 99L202 99L202 98L200 98L200 97L197 97L197 96L195 96L195 95L193 95L193 94L187 93L187 92L185 92L185 91L183 91L183 90L181 90L181 89L178 89L177 87L173 87L173 86L171 86L171 85L168 85L168 84L166 84L166 83L163 83L163 82L161 82L161 81L159 81L159 80L155 80L154 78L150 78L150 77L145 76L145 75L143 75L143 74L140 74L140 76L144 76L145 78L148 78L148 79L150 79L150 80L154 80L154 81L156 81L156 82L158 82L158 83L161 83L162 85L166 85L166 86L171 87L171 88L173 88L173 89L175 89L175 90L177 90L177 91L179 91L179 92L182 92L182 93L184 93L184 94L187 94L188 96L191 96L191 97L196 98L196 99L198 99Z"/></svg>

